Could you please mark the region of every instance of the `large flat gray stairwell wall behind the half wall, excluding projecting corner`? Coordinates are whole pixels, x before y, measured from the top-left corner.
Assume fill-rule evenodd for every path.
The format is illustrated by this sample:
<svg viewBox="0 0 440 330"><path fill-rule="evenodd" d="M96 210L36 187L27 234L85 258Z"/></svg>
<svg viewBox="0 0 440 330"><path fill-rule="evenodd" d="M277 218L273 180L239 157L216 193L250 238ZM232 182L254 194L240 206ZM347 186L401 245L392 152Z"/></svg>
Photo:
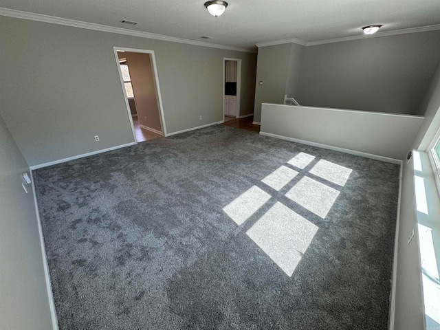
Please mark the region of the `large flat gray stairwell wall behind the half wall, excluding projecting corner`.
<svg viewBox="0 0 440 330"><path fill-rule="evenodd" d="M378 36L305 48L298 102L420 114L440 61L440 31Z"/></svg>

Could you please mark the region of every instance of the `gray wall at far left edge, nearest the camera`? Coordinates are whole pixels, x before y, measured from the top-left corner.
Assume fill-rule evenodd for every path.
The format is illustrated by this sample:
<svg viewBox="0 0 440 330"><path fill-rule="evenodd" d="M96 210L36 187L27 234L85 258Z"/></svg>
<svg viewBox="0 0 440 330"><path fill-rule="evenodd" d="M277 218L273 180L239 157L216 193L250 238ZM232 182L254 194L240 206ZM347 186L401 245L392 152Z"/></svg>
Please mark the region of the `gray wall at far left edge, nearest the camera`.
<svg viewBox="0 0 440 330"><path fill-rule="evenodd" d="M48 330L52 320L28 164L0 116L0 328Z"/></svg>

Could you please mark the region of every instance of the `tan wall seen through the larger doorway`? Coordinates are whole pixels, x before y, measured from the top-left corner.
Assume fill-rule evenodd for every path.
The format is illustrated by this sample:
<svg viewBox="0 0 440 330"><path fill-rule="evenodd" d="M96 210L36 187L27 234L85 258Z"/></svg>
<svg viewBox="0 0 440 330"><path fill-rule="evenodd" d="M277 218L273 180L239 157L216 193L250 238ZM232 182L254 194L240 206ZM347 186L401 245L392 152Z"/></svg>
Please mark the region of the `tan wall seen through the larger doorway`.
<svg viewBox="0 0 440 330"><path fill-rule="evenodd" d="M141 125L162 132L150 54L124 52Z"/></svg>

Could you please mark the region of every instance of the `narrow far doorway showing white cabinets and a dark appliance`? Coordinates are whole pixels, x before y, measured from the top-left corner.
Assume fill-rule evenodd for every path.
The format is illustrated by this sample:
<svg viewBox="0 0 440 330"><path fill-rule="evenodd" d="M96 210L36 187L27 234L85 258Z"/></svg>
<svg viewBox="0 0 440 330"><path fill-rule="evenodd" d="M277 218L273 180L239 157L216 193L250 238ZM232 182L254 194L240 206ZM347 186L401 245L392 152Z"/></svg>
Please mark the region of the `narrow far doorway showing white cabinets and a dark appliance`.
<svg viewBox="0 0 440 330"><path fill-rule="evenodd" d="M240 118L241 59L223 58L223 118Z"/></svg>

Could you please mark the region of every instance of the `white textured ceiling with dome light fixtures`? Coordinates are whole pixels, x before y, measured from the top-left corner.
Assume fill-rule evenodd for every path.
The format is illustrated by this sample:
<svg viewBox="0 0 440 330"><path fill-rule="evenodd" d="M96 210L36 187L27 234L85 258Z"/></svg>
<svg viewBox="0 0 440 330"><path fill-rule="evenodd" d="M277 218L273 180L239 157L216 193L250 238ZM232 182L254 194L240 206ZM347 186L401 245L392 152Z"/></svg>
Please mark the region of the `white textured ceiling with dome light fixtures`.
<svg viewBox="0 0 440 330"><path fill-rule="evenodd" d="M440 24L440 0L228 0L212 17L204 0L1 0L0 7L234 47L280 39L306 42ZM118 23L122 19L137 25Z"/></svg>

